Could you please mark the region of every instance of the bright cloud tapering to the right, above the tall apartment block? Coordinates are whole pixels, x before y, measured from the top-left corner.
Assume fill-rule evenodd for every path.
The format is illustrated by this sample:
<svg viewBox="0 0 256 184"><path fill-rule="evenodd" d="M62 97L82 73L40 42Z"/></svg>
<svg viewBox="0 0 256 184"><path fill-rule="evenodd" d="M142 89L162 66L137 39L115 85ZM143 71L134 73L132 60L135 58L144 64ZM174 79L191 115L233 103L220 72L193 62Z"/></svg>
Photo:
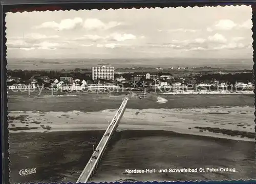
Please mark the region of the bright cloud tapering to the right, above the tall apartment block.
<svg viewBox="0 0 256 184"><path fill-rule="evenodd" d="M110 21L108 23L104 23L97 18L88 18L83 22L83 28L88 30L95 30L95 29L108 30L108 29L117 27L120 24L121 24L120 22L116 22L116 21Z"/></svg>

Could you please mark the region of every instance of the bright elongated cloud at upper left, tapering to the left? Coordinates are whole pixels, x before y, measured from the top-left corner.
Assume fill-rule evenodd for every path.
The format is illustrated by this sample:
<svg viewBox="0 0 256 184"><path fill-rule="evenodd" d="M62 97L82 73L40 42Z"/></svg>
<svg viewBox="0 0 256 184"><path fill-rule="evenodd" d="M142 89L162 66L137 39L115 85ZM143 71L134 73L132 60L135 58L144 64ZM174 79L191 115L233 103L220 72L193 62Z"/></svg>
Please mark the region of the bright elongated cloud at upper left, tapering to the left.
<svg viewBox="0 0 256 184"><path fill-rule="evenodd" d="M80 17L76 17L74 19L63 19L59 23L55 21L50 21L50 22L44 22L41 25L36 26L36 29L40 28L51 28L54 30L72 30L74 29L77 25L82 24L82 19Z"/></svg>

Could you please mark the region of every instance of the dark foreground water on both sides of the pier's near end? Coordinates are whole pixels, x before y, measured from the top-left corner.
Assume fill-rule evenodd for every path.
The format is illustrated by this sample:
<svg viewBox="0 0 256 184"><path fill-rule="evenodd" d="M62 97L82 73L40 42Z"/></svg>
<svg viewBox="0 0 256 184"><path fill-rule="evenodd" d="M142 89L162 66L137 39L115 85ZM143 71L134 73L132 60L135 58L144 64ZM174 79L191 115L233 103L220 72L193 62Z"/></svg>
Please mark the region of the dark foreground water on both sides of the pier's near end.
<svg viewBox="0 0 256 184"><path fill-rule="evenodd" d="M11 183L75 182L103 132L10 134ZM22 140L20 140L22 138ZM19 140L19 141L18 141ZM148 144L150 142L150 144ZM117 132L93 181L255 178L254 143L161 131ZM36 173L19 176L20 169ZM125 169L235 168L236 172L126 174Z"/></svg>

